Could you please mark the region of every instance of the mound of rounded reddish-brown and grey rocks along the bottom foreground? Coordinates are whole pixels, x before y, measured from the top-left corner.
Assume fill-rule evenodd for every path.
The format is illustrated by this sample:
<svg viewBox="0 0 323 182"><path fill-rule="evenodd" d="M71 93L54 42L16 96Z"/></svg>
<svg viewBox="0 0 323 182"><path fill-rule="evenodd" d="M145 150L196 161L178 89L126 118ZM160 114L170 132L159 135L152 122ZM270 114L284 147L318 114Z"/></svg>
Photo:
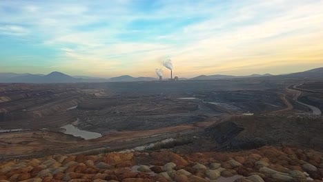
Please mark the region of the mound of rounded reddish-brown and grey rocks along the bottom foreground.
<svg viewBox="0 0 323 182"><path fill-rule="evenodd" d="M323 154L262 147L242 152L108 153L0 163L0 181L322 181Z"/></svg>

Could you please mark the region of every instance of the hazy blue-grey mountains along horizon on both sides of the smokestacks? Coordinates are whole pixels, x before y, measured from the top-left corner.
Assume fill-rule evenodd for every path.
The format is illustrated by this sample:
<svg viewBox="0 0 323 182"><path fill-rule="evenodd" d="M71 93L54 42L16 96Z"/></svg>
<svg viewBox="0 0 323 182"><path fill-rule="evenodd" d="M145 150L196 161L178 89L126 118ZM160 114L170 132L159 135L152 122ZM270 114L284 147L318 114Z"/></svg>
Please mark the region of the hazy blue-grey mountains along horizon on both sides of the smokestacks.
<svg viewBox="0 0 323 182"><path fill-rule="evenodd" d="M291 74L251 74L248 76L232 76L232 75L199 75L189 80L219 80L219 79L238 79L238 78L255 78L255 77L278 77L278 78L322 78L323 68L315 68L304 72L295 72ZM185 78L182 78L185 80ZM0 72L0 83L79 83L79 82L119 82L119 81L157 81L153 77L131 77L130 75L122 75L112 77L110 79L98 77L75 76L71 77L62 72L51 72L50 74L17 74L12 72Z"/></svg>

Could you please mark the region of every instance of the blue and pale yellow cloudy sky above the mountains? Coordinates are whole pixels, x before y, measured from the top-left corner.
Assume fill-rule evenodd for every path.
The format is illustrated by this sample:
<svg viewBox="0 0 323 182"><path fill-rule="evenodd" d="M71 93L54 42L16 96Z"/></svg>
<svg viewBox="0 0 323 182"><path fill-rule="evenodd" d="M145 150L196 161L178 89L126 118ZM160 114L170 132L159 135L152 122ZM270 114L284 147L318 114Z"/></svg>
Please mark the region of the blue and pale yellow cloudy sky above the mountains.
<svg viewBox="0 0 323 182"><path fill-rule="evenodd" d="M323 0L0 0L0 72L157 77L323 67Z"/></svg>

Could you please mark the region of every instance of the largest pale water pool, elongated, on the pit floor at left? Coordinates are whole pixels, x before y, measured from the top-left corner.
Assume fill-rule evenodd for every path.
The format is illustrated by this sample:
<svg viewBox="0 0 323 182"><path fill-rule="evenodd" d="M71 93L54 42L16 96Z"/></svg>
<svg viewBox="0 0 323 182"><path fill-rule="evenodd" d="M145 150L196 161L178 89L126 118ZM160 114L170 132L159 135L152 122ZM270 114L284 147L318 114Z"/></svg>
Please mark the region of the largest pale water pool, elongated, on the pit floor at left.
<svg viewBox="0 0 323 182"><path fill-rule="evenodd" d="M89 139L97 139L102 136L102 134L97 132L88 132L86 130L79 130L79 128L76 128L74 125L68 124L64 125L61 128L64 128L66 132L65 134L72 134L73 136L80 136L83 139L89 140Z"/></svg>

